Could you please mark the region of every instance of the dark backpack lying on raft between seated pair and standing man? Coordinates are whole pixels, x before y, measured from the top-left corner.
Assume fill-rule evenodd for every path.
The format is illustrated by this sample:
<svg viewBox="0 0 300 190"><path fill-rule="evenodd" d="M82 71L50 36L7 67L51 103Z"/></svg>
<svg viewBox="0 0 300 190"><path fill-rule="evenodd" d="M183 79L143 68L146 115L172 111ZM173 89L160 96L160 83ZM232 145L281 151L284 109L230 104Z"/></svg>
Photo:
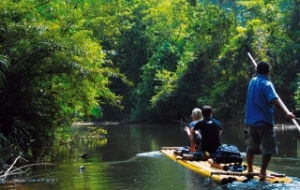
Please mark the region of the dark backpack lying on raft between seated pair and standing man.
<svg viewBox="0 0 300 190"><path fill-rule="evenodd" d="M239 149L231 144L222 144L212 156L215 163L242 163L243 158Z"/></svg>

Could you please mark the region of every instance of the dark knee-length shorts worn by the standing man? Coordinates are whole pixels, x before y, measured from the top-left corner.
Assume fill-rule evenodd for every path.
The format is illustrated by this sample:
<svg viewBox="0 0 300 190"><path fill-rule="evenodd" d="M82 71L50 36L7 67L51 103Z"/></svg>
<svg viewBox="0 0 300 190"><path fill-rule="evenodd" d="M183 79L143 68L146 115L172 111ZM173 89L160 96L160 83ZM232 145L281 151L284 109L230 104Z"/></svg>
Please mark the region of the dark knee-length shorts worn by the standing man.
<svg viewBox="0 0 300 190"><path fill-rule="evenodd" d="M247 153L276 154L278 153L275 129L270 124L261 127L249 127Z"/></svg>

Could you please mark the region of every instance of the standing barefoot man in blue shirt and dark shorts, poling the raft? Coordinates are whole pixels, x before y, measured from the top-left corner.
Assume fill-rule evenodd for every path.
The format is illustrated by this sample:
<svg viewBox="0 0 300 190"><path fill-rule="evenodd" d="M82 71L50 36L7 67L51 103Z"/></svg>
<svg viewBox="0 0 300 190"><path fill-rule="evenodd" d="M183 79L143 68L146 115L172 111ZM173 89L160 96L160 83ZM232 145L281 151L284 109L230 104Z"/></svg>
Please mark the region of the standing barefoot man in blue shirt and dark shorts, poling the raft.
<svg viewBox="0 0 300 190"><path fill-rule="evenodd" d="M286 117L294 118L292 112L285 112L273 83L269 80L270 65L267 62L257 64L257 76L248 86L245 125L249 127L247 147L248 172L253 172L254 154L262 154L260 178L273 178L266 173L272 154L278 152L274 130L274 106L282 110ZM260 149L261 147L261 149Z"/></svg>

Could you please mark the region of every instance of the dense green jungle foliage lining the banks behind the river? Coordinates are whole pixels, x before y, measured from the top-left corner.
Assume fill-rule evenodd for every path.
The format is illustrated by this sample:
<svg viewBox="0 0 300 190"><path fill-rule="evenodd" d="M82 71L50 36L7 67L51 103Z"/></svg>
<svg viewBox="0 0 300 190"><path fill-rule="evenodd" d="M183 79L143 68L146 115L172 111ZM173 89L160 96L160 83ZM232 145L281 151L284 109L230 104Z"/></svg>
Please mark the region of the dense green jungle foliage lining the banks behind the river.
<svg viewBox="0 0 300 190"><path fill-rule="evenodd" d="M299 0L2 0L0 152L78 118L189 119L211 105L242 122L255 60L300 109ZM278 115L278 121L284 120Z"/></svg>

